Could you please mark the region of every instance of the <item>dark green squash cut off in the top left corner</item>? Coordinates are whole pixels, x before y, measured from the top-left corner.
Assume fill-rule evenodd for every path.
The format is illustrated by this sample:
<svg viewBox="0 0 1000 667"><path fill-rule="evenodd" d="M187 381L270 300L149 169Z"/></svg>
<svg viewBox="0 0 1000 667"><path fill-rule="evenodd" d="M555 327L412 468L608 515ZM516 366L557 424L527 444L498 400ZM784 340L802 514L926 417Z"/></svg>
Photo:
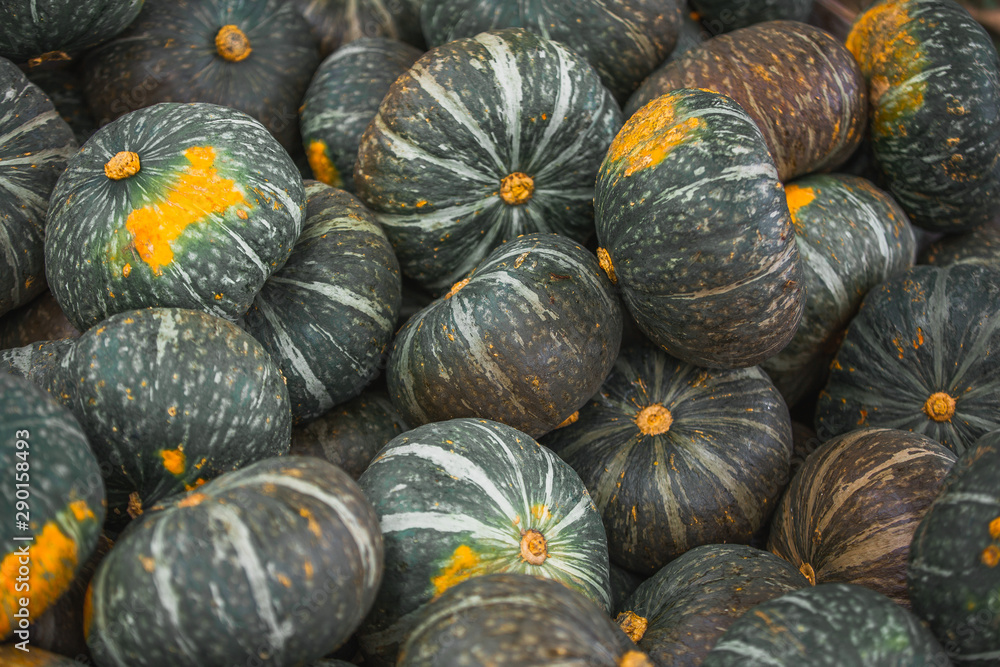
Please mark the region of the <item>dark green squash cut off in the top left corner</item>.
<svg viewBox="0 0 1000 667"><path fill-rule="evenodd" d="M25 62L50 51L77 55L110 39L143 0L6 0L0 3L0 56Z"/></svg>

